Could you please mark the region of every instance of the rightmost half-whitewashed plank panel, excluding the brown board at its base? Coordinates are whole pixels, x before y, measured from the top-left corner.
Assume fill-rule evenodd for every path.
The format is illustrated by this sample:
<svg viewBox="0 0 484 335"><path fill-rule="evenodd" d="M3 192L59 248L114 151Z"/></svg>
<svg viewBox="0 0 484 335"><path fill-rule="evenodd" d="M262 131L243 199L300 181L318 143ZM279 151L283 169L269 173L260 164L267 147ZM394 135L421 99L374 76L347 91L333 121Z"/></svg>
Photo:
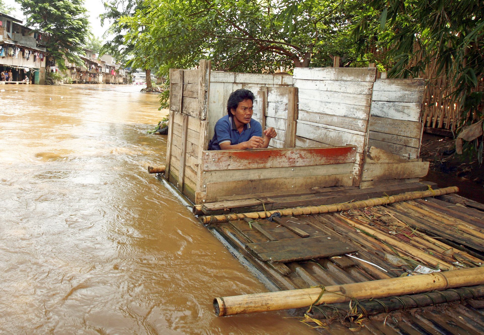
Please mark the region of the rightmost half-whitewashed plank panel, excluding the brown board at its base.
<svg viewBox="0 0 484 335"><path fill-rule="evenodd" d="M418 158L423 79L378 79L373 86L368 148Z"/></svg>

